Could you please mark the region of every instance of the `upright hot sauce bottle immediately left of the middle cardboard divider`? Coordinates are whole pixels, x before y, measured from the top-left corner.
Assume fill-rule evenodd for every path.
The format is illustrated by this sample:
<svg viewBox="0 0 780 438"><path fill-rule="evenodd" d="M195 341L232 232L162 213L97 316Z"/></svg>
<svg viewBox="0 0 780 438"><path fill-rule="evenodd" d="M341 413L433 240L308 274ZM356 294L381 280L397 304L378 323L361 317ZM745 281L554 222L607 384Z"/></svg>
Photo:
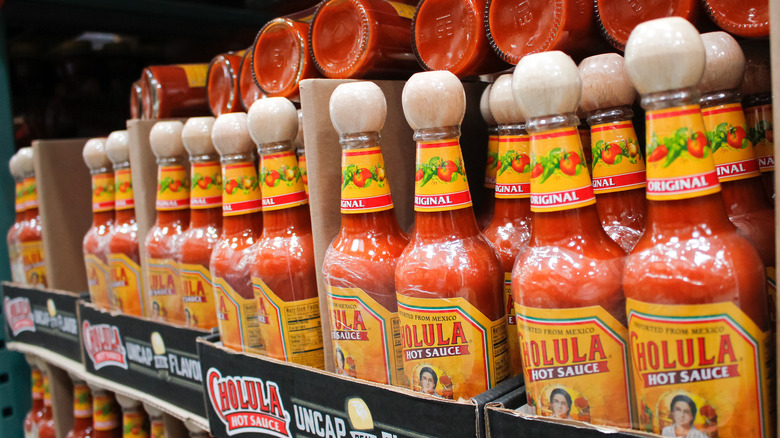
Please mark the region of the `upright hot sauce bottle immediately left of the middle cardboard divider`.
<svg viewBox="0 0 780 438"><path fill-rule="evenodd" d="M114 131L106 140L106 155L114 164L114 227L108 238L108 297L112 310L144 316L143 277L135 221L133 179L127 131Z"/></svg>

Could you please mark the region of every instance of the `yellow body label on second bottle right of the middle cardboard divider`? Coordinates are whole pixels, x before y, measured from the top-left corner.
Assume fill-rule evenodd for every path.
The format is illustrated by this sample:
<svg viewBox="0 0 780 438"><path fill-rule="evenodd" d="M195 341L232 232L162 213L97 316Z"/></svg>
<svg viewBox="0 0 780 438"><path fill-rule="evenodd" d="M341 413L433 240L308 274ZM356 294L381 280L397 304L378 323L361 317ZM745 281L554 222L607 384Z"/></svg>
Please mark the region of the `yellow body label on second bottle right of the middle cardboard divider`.
<svg viewBox="0 0 780 438"><path fill-rule="evenodd" d="M182 302L187 326L210 329L217 326L211 273L202 265L179 263Z"/></svg>

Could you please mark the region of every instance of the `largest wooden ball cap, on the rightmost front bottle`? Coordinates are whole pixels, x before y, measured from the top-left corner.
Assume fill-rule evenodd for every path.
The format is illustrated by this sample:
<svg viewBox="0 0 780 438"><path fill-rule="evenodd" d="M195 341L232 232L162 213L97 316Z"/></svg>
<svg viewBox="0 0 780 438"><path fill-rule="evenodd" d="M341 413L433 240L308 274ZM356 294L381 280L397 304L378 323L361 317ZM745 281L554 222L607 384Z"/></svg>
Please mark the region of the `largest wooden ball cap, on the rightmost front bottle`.
<svg viewBox="0 0 780 438"><path fill-rule="evenodd" d="M626 43L626 71L639 94L695 87L704 74L704 64L699 32L684 18L641 23Z"/></svg>

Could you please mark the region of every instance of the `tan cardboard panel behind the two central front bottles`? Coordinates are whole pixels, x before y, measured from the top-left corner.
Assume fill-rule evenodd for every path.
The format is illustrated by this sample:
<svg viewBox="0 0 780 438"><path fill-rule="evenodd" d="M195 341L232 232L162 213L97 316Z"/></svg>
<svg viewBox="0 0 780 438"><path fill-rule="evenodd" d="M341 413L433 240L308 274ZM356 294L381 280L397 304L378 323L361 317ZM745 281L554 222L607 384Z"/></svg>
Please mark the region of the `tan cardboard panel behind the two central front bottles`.
<svg viewBox="0 0 780 438"><path fill-rule="evenodd" d="M309 175L309 204L314 237L314 258L320 297L322 331L325 341L325 367L333 371L330 319L327 293L322 276L325 252L341 227L341 145L330 120L330 95L347 80L306 79L301 81L301 110ZM414 222L414 131L406 122L401 104L404 81L373 81L385 94L387 118L382 129L381 148L387 179L393 196L395 214L403 230ZM482 202L482 187L487 161L487 125L479 112L479 100L487 86L483 82L464 83L466 115L461 127L461 149L466 164L469 188L475 207Z"/></svg>

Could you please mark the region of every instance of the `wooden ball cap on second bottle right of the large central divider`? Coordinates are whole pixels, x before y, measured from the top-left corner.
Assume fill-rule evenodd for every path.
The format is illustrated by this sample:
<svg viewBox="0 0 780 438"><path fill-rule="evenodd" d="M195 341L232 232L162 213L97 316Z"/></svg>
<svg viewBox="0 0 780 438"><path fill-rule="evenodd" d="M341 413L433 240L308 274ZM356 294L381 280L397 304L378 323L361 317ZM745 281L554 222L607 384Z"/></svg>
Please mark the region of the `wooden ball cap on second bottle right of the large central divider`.
<svg viewBox="0 0 780 438"><path fill-rule="evenodd" d="M466 114L466 92L448 71L415 73L401 95L406 122L412 129L457 126Z"/></svg>

